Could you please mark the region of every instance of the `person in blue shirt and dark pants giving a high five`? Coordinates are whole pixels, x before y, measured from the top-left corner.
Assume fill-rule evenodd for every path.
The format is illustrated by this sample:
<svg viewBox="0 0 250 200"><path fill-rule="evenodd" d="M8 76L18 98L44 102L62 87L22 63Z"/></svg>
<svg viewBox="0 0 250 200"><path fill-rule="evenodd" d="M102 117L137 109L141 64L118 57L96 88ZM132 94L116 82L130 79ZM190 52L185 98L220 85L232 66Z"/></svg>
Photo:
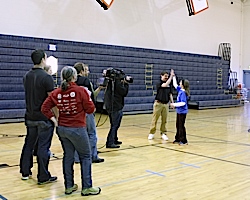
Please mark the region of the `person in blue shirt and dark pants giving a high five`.
<svg viewBox="0 0 250 200"><path fill-rule="evenodd" d="M188 113L187 100L190 95L189 81L184 79L180 81L180 85L177 85L176 77L173 77L173 85L178 92L177 102L171 103L172 108L176 108L177 119L176 119L176 135L173 143L179 143L179 145L187 145L185 120Z"/></svg>

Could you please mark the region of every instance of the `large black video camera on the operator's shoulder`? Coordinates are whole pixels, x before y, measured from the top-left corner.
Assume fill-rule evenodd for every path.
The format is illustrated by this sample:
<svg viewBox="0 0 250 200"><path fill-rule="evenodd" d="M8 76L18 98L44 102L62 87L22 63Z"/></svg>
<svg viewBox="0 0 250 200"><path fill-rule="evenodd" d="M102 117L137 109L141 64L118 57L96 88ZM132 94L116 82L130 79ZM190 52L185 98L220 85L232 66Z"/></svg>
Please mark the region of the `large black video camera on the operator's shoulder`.
<svg viewBox="0 0 250 200"><path fill-rule="evenodd" d="M121 69L108 68L106 70L103 70L102 75L104 77L104 81L100 85L105 87L107 86L109 80L125 80L127 83L133 83L134 81L132 76L127 76Z"/></svg>

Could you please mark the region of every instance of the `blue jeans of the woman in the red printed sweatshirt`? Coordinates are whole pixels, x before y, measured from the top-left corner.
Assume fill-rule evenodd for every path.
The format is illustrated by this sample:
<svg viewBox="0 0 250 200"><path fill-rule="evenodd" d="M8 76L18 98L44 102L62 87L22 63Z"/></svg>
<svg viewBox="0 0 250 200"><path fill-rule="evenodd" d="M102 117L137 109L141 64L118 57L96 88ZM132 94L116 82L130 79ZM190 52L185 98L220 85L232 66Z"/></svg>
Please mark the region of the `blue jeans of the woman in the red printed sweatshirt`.
<svg viewBox="0 0 250 200"><path fill-rule="evenodd" d="M56 132L63 148L63 175L65 188L70 188L74 185L73 165L75 150L80 158L82 189L92 187L91 150L86 128L58 126Z"/></svg>

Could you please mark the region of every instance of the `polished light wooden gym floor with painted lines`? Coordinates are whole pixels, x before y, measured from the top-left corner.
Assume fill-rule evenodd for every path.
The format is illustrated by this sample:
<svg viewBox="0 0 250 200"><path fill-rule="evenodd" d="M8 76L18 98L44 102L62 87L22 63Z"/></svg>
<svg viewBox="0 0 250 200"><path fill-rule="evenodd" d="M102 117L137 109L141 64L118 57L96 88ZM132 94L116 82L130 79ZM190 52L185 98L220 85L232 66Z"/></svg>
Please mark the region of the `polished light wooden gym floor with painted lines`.
<svg viewBox="0 0 250 200"><path fill-rule="evenodd" d="M98 130L98 147L104 163L93 164L93 185L98 196L81 197L80 190L64 195L62 149L54 135L49 165L58 181L39 186L33 178L22 181L19 157L25 134L23 123L0 124L0 199L100 199L100 200L217 200L250 199L250 104L242 107L189 110L188 146L172 144L175 112L169 113L168 137L147 136L151 114L126 115L119 129L120 149L104 146L108 120ZM99 115L96 116L98 121ZM99 124L106 119L102 115ZM158 126L159 127L159 126ZM7 136L6 136L7 135ZM75 181L80 185L79 165Z"/></svg>

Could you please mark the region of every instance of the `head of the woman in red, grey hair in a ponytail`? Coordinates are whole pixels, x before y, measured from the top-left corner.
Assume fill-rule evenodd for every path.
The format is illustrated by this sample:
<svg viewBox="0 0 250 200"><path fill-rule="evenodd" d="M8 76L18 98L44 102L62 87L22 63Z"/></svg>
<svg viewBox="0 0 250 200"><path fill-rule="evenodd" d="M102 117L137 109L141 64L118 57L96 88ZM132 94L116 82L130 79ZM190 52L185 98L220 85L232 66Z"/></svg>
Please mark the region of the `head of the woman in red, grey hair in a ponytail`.
<svg viewBox="0 0 250 200"><path fill-rule="evenodd" d="M70 82L77 80L77 72L74 67L66 66L61 71L61 89L63 91L68 89Z"/></svg>

